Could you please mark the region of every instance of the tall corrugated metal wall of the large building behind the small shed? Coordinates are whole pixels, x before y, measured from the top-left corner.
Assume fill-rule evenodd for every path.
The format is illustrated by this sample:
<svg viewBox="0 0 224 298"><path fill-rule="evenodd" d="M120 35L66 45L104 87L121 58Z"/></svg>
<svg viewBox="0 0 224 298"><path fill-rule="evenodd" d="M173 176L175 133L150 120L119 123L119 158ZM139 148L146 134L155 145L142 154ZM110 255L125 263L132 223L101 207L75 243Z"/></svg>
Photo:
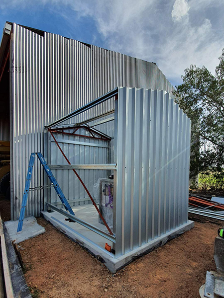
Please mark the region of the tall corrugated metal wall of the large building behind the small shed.
<svg viewBox="0 0 224 298"><path fill-rule="evenodd" d="M29 155L44 149L44 126L107 93L116 86L153 88L170 93L173 86L154 63L128 57L57 34L39 35L13 24L10 51L12 90L11 219L18 219ZM43 36L42 36L43 35ZM93 117L113 108L113 100L93 108ZM81 116L78 120L83 120ZM110 126L110 122L105 127ZM31 187L43 185L36 162ZM31 192L26 216L39 216L43 191Z"/></svg>

